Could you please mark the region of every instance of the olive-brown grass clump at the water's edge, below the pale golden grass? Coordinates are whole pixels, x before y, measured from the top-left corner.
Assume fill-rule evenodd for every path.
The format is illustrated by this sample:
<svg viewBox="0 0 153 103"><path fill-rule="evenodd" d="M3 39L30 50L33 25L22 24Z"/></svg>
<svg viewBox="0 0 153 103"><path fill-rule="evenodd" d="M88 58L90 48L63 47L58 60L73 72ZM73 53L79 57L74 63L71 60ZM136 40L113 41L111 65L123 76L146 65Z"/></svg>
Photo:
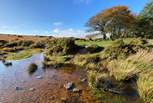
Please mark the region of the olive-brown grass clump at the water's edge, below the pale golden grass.
<svg viewBox="0 0 153 103"><path fill-rule="evenodd" d="M103 88L108 82L111 82L110 77L106 73L100 73L98 71L88 71L88 85L92 88L92 92L99 101L104 103L125 103L125 98L121 95L114 95L112 93L106 92Z"/></svg>

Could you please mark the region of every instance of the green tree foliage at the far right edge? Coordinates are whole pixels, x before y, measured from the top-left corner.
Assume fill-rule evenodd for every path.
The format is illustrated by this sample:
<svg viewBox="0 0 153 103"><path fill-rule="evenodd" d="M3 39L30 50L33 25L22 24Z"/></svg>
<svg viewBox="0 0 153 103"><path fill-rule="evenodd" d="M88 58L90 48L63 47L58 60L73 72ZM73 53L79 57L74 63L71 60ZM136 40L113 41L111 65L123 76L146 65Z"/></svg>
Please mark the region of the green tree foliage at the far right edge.
<svg viewBox="0 0 153 103"><path fill-rule="evenodd" d="M153 1L148 2L137 17L137 36L153 38Z"/></svg>

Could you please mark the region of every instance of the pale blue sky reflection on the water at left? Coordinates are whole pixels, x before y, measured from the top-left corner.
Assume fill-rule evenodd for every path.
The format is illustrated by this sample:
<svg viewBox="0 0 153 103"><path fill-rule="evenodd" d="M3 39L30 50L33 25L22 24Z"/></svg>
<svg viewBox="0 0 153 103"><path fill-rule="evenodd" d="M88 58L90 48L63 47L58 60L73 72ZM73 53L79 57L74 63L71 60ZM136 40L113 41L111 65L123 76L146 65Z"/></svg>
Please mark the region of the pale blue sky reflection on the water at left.
<svg viewBox="0 0 153 103"><path fill-rule="evenodd" d="M0 90L7 89L10 86L15 87L20 82L30 80L31 76L28 74L27 68L31 63L38 65L38 70L34 75L42 74L43 59L43 54L35 54L27 59L10 61L12 66L8 67L0 61Z"/></svg>

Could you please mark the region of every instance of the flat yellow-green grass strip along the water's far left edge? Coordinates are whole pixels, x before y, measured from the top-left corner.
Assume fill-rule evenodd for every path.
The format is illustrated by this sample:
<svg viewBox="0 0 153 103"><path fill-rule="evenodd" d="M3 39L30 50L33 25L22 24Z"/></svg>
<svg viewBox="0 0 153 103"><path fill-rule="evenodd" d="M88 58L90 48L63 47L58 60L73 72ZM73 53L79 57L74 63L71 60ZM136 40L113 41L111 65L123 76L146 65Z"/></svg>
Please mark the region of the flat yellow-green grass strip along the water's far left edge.
<svg viewBox="0 0 153 103"><path fill-rule="evenodd" d="M19 51L18 53L8 53L6 60L25 59L32 56L32 54L40 53L40 52L41 52L40 49L26 49L26 50Z"/></svg>

